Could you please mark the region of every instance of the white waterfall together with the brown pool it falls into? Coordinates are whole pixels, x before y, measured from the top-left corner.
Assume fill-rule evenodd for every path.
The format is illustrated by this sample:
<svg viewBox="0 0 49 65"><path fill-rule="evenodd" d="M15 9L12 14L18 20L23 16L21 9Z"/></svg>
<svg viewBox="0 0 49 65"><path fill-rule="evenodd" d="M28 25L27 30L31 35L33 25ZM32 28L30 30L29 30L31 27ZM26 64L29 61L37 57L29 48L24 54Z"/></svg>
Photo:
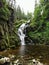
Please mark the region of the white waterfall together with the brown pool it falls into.
<svg viewBox="0 0 49 65"><path fill-rule="evenodd" d="M30 21L27 21L28 23ZM46 45L25 45L25 34L24 30L28 27L28 23L23 23L18 29L18 36L21 40L21 46L16 47L15 49L8 49L6 51L0 51L0 55L9 56L15 55L16 59L22 60L23 65L49 65L49 46ZM23 57L23 59L22 59ZM40 60L38 64L25 64L26 61L32 60L35 62L35 59ZM25 62L24 62L25 61ZM36 62L37 63L37 62Z"/></svg>

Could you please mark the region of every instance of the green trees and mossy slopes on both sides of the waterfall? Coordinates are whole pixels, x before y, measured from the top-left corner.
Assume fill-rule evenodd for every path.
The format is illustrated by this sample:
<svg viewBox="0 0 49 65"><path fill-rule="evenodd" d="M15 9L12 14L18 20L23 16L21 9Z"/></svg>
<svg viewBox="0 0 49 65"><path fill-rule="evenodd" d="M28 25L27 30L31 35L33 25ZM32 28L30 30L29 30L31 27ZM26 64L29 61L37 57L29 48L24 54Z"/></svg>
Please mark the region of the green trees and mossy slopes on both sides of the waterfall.
<svg viewBox="0 0 49 65"><path fill-rule="evenodd" d="M14 1L14 0L13 0ZM9 0L10 3L10 0ZM5 49L20 45L18 28L27 20L31 20L26 35L35 44L49 44L49 1L40 0L35 7L34 16L27 15L20 6L14 9L6 0L0 1L0 48ZM13 3L11 3L13 4Z"/></svg>

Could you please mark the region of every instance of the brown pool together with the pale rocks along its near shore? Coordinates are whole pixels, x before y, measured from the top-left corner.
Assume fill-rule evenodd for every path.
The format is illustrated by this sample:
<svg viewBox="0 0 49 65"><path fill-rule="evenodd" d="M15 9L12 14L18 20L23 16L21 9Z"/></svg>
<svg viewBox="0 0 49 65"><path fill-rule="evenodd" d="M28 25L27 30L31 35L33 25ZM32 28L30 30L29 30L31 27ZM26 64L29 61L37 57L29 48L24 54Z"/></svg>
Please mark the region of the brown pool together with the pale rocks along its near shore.
<svg viewBox="0 0 49 65"><path fill-rule="evenodd" d="M49 65L49 46L19 46L0 51L0 65Z"/></svg>

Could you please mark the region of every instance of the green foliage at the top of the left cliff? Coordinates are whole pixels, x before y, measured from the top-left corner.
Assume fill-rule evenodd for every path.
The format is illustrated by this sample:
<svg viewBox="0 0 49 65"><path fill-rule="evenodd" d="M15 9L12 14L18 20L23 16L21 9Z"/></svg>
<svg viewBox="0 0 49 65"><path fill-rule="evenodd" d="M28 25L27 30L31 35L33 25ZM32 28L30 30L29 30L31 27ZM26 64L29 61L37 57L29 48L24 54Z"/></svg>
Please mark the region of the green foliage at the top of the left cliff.
<svg viewBox="0 0 49 65"><path fill-rule="evenodd" d="M0 8L0 19L8 20L10 11L6 5L6 0L1 1L2 7Z"/></svg>

